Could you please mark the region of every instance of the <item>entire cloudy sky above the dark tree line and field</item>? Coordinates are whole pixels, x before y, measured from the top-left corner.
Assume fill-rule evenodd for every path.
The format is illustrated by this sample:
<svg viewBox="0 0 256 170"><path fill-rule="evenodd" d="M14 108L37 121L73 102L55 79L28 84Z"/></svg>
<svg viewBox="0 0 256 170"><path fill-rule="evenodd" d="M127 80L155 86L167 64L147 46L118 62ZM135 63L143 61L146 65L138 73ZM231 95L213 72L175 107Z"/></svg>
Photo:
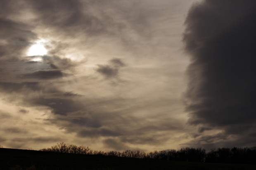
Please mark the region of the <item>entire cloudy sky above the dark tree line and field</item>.
<svg viewBox="0 0 256 170"><path fill-rule="evenodd" d="M0 4L3 147L256 146L256 1Z"/></svg>

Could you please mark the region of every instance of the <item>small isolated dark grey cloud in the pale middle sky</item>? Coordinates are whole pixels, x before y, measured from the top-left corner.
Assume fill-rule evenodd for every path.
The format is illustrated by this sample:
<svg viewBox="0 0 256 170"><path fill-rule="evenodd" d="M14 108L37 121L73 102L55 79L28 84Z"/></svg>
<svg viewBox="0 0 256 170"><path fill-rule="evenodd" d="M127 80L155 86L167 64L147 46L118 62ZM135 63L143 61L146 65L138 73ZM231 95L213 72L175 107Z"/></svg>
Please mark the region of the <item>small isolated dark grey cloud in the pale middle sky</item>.
<svg viewBox="0 0 256 170"><path fill-rule="evenodd" d="M111 59L109 63L110 65L98 65L96 71L108 78L117 77L120 67L125 66L125 64L118 58Z"/></svg>

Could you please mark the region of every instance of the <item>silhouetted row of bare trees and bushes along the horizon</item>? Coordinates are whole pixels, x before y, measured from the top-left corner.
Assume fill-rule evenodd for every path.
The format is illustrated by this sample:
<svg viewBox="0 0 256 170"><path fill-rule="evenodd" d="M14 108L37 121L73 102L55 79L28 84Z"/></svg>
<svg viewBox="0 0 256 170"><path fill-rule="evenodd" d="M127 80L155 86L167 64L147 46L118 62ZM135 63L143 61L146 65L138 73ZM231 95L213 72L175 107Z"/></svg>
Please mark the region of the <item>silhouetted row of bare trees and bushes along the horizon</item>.
<svg viewBox="0 0 256 170"><path fill-rule="evenodd" d="M191 162L212 162L212 163L253 163L256 160L256 147L251 148L218 148L211 149L206 153L202 148L185 147L179 150L168 149L162 151L97 151L85 146L66 145L64 142L57 143L51 148L40 149L40 151L52 151L72 154L90 154L102 156L119 156L128 158L145 158L169 161L191 161Z"/></svg>

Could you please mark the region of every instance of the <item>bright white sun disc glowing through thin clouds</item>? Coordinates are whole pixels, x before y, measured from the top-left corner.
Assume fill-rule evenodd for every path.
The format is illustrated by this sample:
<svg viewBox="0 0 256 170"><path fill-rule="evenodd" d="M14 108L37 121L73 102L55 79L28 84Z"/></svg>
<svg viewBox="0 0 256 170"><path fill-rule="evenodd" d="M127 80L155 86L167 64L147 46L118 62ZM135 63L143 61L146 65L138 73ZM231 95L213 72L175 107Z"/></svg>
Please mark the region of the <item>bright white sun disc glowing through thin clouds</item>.
<svg viewBox="0 0 256 170"><path fill-rule="evenodd" d="M28 49L28 56L43 56L47 54L47 49L44 46L45 40L39 40Z"/></svg>

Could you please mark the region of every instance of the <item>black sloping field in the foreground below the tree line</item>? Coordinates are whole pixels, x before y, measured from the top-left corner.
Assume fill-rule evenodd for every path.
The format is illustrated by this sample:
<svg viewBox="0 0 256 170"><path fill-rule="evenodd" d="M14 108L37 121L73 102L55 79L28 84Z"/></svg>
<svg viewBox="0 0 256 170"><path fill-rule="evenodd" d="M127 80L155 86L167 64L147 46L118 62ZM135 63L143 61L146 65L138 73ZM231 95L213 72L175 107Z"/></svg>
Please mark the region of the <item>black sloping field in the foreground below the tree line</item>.
<svg viewBox="0 0 256 170"><path fill-rule="evenodd" d="M256 170L256 165L178 162L0 148L0 170Z"/></svg>

